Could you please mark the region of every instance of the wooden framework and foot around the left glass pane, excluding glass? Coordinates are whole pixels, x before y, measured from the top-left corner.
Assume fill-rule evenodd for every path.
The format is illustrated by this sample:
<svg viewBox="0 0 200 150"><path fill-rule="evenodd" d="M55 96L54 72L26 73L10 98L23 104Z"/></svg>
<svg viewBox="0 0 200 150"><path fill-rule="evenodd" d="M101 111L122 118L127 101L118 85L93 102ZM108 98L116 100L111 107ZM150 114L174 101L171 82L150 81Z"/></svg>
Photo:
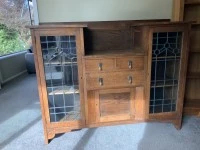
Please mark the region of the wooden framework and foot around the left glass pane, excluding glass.
<svg viewBox="0 0 200 150"><path fill-rule="evenodd" d="M33 30L33 29L32 29ZM80 28L34 28L34 33L32 33L35 37L33 37L33 43L35 48L35 60L36 60L36 69L37 71L37 78L39 81L39 93L40 101L41 101L41 108L42 108L42 116L44 120L45 130L45 142L48 143L49 139L53 138L56 133L60 132L61 127L68 128L68 131L73 129L79 129L85 126L85 113L84 113L84 93L83 93L83 70L82 70L82 55L84 54L84 47L83 47L83 32ZM78 73L79 73L79 92L80 92L80 104L81 104L81 119L76 121L67 121L67 122L50 122L50 115L49 115L49 104L48 104L48 95L47 95L47 87L45 81L45 72L44 72L44 63L43 63L43 56L42 50L40 45L40 36L62 36L62 35L75 35L76 36L76 48L77 48L77 63L78 66ZM81 37L82 36L82 37Z"/></svg>

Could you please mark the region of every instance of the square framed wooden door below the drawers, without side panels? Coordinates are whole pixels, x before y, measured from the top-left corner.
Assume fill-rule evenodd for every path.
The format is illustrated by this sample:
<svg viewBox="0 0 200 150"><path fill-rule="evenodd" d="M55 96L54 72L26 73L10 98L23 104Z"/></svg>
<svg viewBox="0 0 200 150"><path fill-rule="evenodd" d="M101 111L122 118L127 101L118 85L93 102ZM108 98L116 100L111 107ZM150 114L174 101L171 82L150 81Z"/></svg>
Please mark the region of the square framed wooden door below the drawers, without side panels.
<svg viewBox="0 0 200 150"><path fill-rule="evenodd" d="M96 91L95 101L98 122L134 118L134 91L131 88Z"/></svg>

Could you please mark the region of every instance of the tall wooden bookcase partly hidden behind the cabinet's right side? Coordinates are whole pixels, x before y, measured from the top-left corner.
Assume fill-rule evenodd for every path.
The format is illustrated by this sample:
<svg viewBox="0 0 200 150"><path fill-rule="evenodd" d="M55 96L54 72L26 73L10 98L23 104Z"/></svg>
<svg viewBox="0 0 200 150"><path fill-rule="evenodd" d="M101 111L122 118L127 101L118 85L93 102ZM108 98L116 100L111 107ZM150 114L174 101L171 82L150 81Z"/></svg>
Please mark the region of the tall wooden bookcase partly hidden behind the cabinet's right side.
<svg viewBox="0 0 200 150"><path fill-rule="evenodd" d="M191 21L184 114L200 116L200 0L174 0L173 12L173 21Z"/></svg>

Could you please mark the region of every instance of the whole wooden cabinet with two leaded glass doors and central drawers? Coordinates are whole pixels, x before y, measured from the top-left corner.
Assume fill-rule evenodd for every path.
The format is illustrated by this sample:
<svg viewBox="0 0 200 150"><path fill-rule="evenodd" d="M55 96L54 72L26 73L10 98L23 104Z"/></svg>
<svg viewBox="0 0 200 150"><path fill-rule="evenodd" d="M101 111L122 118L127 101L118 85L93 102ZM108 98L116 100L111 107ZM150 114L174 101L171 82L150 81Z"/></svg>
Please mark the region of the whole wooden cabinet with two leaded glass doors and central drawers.
<svg viewBox="0 0 200 150"><path fill-rule="evenodd" d="M189 24L122 23L30 27L46 142L85 127L181 127Z"/></svg>

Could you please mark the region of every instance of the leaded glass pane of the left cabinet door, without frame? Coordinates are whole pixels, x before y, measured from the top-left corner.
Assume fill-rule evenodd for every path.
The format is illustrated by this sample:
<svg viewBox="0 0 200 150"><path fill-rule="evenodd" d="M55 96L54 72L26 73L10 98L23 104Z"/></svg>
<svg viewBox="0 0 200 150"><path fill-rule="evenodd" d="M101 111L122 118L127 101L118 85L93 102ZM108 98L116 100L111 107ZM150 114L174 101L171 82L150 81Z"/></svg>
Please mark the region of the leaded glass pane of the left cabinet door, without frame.
<svg viewBox="0 0 200 150"><path fill-rule="evenodd" d="M80 119L75 36L41 36L51 122Z"/></svg>

